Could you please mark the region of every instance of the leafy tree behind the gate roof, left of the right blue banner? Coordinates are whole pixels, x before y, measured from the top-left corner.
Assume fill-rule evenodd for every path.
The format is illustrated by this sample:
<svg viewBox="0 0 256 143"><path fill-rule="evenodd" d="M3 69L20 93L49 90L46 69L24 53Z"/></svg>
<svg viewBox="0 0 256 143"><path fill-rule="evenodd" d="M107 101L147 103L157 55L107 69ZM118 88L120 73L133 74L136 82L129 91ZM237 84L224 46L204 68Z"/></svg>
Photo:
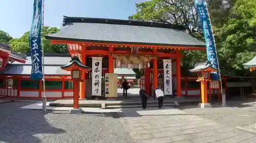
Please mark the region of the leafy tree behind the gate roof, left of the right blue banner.
<svg viewBox="0 0 256 143"><path fill-rule="evenodd" d="M136 7L137 13L130 16L129 19L182 25L186 27L191 36L204 40L193 0L152 0L136 4ZM185 55L181 59L183 67L193 67L195 63L206 60L205 52L182 51L182 54Z"/></svg>

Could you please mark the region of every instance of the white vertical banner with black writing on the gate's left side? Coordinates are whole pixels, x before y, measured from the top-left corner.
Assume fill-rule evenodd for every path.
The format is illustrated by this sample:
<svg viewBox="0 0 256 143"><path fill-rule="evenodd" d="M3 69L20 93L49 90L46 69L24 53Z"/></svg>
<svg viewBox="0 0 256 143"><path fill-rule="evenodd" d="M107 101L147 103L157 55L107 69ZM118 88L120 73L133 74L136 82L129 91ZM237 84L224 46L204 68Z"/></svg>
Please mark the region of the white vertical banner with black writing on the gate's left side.
<svg viewBox="0 0 256 143"><path fill-rule="evenodd" d="M101 96L102 58L93 57L92 59L92 96Z"/></svg>

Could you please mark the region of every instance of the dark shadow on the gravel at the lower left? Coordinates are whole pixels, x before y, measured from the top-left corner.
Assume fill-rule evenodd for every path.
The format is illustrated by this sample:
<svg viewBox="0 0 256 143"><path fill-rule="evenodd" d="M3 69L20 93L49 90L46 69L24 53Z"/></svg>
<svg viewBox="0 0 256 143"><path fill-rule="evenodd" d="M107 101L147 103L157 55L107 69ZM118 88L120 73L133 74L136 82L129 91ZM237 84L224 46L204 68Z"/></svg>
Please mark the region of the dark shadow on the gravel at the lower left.
<svg viewBox="0 0 256 143"><path fill-rule="evenodd" d="M31 103L9 102L0 104L0 142L41 142L40 134L66 132L50 125L44 118L46 113L42 111L19 109L19 107L28 104Z"/></svg>

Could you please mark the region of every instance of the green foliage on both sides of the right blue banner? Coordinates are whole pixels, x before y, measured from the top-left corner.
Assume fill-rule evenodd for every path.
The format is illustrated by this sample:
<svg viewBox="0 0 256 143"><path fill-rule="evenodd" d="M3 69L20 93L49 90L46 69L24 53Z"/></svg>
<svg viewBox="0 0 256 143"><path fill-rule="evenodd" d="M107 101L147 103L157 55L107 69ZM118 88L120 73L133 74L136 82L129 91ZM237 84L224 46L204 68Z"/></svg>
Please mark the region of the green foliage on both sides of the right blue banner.
<svg viewBox="0 0 256 143"><path fill-rule="evenodd" d="M136 4L137 13L129 19L163 22L187 27L188 33L204 41L194 1L151 0ZM214 28L222 74L248 75L244 63L256 55L255 0L207 0ZM205 51L183 51L181 65L192 67L206 60Z"/></svg>

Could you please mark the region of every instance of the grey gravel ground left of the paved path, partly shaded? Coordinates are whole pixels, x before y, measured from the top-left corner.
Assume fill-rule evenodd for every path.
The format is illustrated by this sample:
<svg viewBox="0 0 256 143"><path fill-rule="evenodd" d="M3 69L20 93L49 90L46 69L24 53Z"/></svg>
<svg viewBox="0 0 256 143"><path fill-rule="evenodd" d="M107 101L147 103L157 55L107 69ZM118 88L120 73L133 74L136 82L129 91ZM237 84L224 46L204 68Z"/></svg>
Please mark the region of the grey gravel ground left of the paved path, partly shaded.
<svg viewBox="0 0 256 143"><path fill-rule="evenodd" d="M0 142L134 142L117 113L72 115L18 109L29 104L0 104Z"/></svg>

